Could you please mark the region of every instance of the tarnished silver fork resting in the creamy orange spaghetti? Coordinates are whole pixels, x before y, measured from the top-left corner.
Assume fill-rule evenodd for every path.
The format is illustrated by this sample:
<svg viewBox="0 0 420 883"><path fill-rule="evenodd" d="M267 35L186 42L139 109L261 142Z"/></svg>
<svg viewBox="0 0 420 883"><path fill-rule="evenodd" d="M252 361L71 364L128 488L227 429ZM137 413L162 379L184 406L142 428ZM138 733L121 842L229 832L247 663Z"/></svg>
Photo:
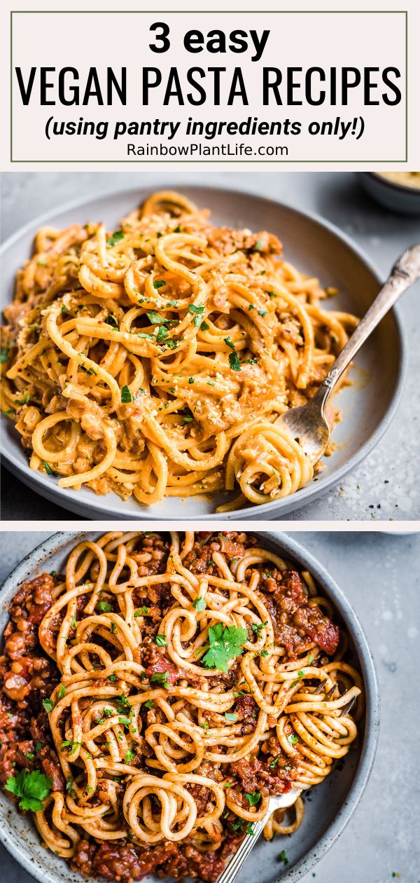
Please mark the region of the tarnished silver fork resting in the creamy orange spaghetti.
<svg viewBox="0 0 420 883"><path fill-rule="evenodd" d="M315 396L307 404L285 411L275 421L277 426L281 424L288 428L289 433L300 443L305 454L311 458L313 465L318 463L329 442L330 429L325 416L326 402L340 380L341 374L349 366L351 359L356 356L356 352L360 350L379 321L391 306L394 306L401 294L416 282L419 276L420 245L411 245L394 264L378 297L375 298L344 349L335 359L333 367L326 374L326 378Z"/></svg>

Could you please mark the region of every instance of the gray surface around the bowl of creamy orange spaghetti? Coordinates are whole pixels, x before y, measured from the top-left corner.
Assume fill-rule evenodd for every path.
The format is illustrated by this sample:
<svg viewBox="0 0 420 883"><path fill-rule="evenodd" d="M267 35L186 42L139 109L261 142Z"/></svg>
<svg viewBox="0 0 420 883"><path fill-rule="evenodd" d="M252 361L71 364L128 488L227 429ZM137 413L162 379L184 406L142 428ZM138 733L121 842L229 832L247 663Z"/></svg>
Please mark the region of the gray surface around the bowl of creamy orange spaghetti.
<svg viewBox="0 0 420 883"><path fill-rule="evenodd" d="M361 189L353 173L339 172L205 172L203 170L145 172L12 172L2 177L3 238L23 223L65 202L129 186L213 184L236 187L306 208L337 224L353 237L377 264L384 277L394 259L420 240L420 219L392 215ZM412 480L419 425L418 346L420 283L399 305L409 351L409 366L401 403L393 424L363 464L340 487L280 520L420 518L420 494ZM389 484L384 479L392 476ZM64 509L43 500L3 470L4 519L64 518ZM77 516L72 516L77 518Z"/></svg>

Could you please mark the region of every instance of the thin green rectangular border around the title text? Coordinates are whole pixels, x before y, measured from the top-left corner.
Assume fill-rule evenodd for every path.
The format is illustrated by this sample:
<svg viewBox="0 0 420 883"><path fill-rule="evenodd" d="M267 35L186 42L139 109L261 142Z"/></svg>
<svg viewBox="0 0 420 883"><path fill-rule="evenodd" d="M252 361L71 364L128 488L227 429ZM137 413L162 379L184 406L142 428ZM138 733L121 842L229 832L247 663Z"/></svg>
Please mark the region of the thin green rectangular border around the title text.
<svg viewBox="0 0 420 883"><path fill-rule="evenodd" d="M191 10L176 9L176 10L160 10L159 12L160 12L160 15L177 15L178 13L182 14L182 13L186 13L188 11L191 11ZM203 15L203 14L206 14L211 11L212 10L202 9L202 10L197 10L195 14ZM229 14L229 12L234 12L234 11L237 12L238 10L226 10L225 9L225 10L219 10L218 12L220 12L221 15L226 15L226 14ZM190 163L190 164L203 163L203 162L207 164L210 162L212 162L212 163L219 162L219 163L225 163L225 164L227 164L227 163L243 164L244 162L248 162L248 163L261 162L263 164L266 164L266 163L281 163L281 164L296 163L296 165L300 164L300 163L308 164L311 162L311 163L317 163L317 164L328 163L328 164L335 164L335 165L340 165L341 163L346 163L347 165L350 165L350 164L351 165L358 165L361 163L363 163L364 165L369 165L372 162L385 163L385 164L388 164L390 162L408 162L408 159L409 159L409 156L408 156L408 152L409 152L409 12L407 10L367 10L367 9L363 9L363 10L356 10L356 9L348 9L348 10L343 10L343 9L336 9L336 10L323 10L323 9L290 10L289 9L289 10L285 10L285 9L282 9L282 10L246 10L245 12L246 12L246 14L251 14L251 15L253 13L257 13L257 12L259 15L269 15L272 13L274 13L274 15L290 15L290 14L296 14L296 13L299 15L306 15L306 14L314 12L317 15L349 15L349 13L350 13L350 14L358 14L358 15L403 15L403 16L405 16L405 156L404 156L404 159L398 159L398 160L396 160L396 159L394 159L394 160L392 160L392 159L389 159L389 160L283 160L283 159L281 159L281 160L278 160L278 159L266 159L266 160L250 160L250 159L235 159L235 160L225 160L225 159L221 159L221 160L209 160L209 159L202 159L202 160L191 160L191 159L188 159L188 160L174 160L174 159L161 159L161 160L159 160L159 159L153 159L153 160L142 160L142 159L138 159L138 160L128 160L128 159L125 159L125 160L15 160L15 159L13 159L13 60L12 60L13 59L13 15L26 15L29 13L31 13L31 14L34 13L35 15L69 15L69 14L71 14L71 15L92 15L92 14L147 15L147 14L152 14L153 12L154 12L154 10L146 10L146 9L143 9L143 10L139 10L139 9L136 9L136 10L129 10L129 9L122 9L122 10L99 10L99 9L97 9L97 10L93 10L93 9L90 9L90 10L89 9L84 9L84 10L64 10L64 9L60 9L60 10L47 10L47 9L11 10L11 146L10 146L11 155L10 155L10 162L16 162L16 163L27 162L27 163L31 163L31 164L59 163L62 165L67 164L67 163L69 163L69 164L70 163L72 163L72 164L95 163L98 165L104 163L104 164L108 165L108 164L113 164L113 163L123 163L124 164L124 163L133 163L133 162L134 163L146 163L146 164L147 163L160 164L160 163L165 163L165 162L166 163L182 162L182 163Z"/></svg>

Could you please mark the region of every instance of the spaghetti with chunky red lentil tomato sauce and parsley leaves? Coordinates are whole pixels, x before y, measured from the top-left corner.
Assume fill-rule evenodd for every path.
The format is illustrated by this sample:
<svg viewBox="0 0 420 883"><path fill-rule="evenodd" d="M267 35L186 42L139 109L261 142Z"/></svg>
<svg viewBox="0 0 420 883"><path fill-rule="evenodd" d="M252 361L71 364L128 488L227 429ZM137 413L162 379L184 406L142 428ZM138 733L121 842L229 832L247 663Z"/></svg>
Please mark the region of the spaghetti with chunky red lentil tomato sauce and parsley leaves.
<svg viewBox="0 0 420 883"><path fill-rule="evenodd" d="M356 739L348 645L311 575L245 533L82 540L11 602L4 789L73 870L214 881L269 796ZM291 812L267 839L296 830L300 796Z"/></svg>

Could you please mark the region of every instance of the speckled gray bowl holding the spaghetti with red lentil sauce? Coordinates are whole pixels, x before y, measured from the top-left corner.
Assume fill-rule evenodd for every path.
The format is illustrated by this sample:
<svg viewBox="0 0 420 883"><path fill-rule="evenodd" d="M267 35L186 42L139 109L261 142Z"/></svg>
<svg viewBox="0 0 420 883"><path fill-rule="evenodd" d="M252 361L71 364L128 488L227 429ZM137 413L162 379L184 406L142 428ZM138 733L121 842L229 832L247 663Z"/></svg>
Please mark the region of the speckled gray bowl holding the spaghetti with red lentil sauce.
<svg viewBox="0 0 420 883"><path fill-rule="evenodd" d="M321 591L332 600L339 619L346 626L354 661L364 678L366 716L360 746L350 751L341 772L334 772L325 782L311 790L306 803L303 825L287 838L274 838L271 843L259 841L237 878L258 879L261 883L296 883L330 849L356 810L371 774L379 736L379 693L371 652L364 631L349 601L326 570L296 540L281 532L252 532L259 541L298 567L310 570ZM0 590L0 634L7 621L7 606L19 584L41 570L61 570L71 547L79 538L96 539L98 532L56 533L34 549L12 571ZM41 847L30 819L19 816L4 793L0 793L0 841L27 872L41 883L81 883L64 860ZM289 864L279 861L282 849L287 850ZM146 878L154 880L154 878Z"/></svg>

